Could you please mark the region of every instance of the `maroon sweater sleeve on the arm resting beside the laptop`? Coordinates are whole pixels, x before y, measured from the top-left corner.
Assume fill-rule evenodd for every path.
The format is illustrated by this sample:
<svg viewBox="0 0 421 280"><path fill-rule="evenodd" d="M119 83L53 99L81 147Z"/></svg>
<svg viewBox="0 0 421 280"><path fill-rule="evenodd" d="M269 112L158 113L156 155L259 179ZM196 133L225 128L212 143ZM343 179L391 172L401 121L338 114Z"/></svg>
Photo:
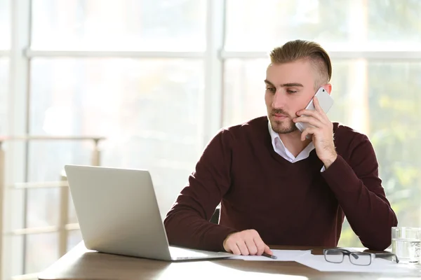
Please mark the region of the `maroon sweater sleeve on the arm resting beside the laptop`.
<svg viewBox="0 0 421 280"><path fill-rule="evenodd" d="M224 251L232 228L210 223L210 218L231 184L232 136L221 130L206 146L187 186L165 218L170 244L208 251Z"/></svg>

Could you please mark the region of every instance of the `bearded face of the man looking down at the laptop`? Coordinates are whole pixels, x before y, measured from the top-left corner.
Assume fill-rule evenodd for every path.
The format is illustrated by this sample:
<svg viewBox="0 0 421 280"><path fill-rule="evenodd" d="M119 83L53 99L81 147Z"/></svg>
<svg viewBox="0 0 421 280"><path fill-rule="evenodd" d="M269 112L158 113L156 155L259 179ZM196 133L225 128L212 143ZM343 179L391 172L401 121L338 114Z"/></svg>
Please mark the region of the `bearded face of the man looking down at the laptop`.
<svg viewBox="0 0 421 280"><path fill-rule="evenodd" d="M314 96L315 69L308 59L269 64L266 71L265 103L274 132L286 134L297 130L293 118L305 109Z"/></svg>

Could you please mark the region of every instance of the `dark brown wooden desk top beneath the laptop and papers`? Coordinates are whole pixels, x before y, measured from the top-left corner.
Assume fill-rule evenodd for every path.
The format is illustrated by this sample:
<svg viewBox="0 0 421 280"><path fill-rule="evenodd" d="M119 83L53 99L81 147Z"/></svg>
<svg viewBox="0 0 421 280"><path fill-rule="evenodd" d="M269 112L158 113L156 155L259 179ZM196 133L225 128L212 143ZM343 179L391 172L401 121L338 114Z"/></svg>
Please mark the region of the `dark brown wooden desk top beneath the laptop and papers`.
<svg viewBox="0 0 421 280"><path fill-rule="evenodd" d="M272 246L278 249L309 249ZM321 248L313 248L321 254ZM411 278L409 278L411 277ZM209 260L165 262L88 251L83 243L39 275L39 279L421 279L421 272L399 276L382 273L319 272L298 262Z"/></svg>

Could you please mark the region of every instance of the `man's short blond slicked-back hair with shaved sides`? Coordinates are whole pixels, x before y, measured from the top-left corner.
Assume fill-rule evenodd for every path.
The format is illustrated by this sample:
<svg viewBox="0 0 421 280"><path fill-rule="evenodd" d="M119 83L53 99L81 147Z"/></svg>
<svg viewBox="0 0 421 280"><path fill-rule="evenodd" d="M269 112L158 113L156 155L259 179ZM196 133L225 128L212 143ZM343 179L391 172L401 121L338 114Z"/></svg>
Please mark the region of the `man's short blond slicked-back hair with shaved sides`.
<svg viewBox="0 0 421 280"><path fill-rule="evenodd" d="M314 69L319 73L315 80L315 88L329 83L332 77L332 64L328 52L319 43L305 40L289 41L280 47L274 48L270 54L272 64L295 62L309 59Z"/></svg>

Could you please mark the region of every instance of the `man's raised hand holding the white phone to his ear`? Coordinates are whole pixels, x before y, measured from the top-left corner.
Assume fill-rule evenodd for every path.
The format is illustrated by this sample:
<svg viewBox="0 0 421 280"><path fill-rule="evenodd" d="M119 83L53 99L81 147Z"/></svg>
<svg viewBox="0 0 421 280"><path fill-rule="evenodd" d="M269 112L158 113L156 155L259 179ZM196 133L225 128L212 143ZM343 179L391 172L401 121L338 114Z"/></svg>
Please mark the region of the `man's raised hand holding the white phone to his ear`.
<svg viewBox="0 0 421 280"><path fill-rule="evenodd" d="M294 123L308 123L301 134L301 141L305 141L308 134L312 134L316 154L323 162L326 169L336 160L338 154L335 151L333 143L333 124L319 104L317 97L313 98L314 108L316 110L301 110L297 112L298 118L294 118Z"/></svg>

